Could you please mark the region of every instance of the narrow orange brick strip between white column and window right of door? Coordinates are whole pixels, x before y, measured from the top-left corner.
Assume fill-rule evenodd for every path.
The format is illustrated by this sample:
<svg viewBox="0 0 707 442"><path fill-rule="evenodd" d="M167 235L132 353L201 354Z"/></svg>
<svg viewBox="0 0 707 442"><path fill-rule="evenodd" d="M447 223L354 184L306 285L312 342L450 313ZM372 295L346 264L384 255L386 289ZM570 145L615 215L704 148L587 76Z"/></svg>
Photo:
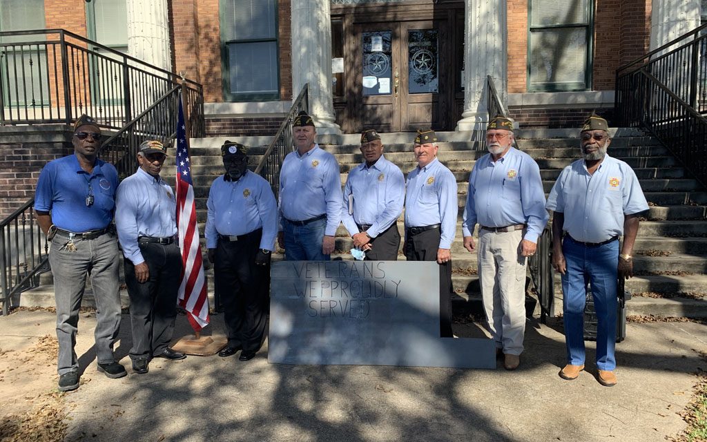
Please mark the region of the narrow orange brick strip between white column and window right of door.
<svg viewBox="0 0 707 442"><path fill-rule="evenodd" d="M508 0L508 93L527 91L528 0Z"/></svg>

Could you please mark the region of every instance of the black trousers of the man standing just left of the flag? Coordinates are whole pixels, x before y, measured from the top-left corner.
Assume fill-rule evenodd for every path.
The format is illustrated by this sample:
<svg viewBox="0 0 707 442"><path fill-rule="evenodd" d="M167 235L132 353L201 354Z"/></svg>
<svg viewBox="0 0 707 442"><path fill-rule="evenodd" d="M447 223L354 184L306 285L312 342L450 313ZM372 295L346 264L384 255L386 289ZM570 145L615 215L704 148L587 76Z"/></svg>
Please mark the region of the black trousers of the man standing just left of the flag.
<svg viewBox="0 0 707 442"><path fill-rule="evenodd" d="M147 281L137 281L132 261L125 259L123 266L130 297L131 359L152 357L169 345L175 330L182 274L182 253L176 243L140 244L140 252L150 270Z"/></svg>

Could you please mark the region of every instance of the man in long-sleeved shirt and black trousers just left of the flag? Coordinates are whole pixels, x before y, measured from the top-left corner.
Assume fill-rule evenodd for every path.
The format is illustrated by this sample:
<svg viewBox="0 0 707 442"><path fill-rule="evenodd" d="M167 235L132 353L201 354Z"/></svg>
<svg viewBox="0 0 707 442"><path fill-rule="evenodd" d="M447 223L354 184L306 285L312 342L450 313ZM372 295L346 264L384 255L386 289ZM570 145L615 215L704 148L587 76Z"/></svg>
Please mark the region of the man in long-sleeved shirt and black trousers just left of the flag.
<svg viewBox="0 0 707 442"><path fill-rule="evenodd" d="M130 296L129 355L138 374L148 372L154 357L187 357L168 347L177 318L182 253L175 240L175 194L160 178L165 158L167 148L160 141L144 141L137 153L140 168L120 183L115 196L115 227Z"/></svg>

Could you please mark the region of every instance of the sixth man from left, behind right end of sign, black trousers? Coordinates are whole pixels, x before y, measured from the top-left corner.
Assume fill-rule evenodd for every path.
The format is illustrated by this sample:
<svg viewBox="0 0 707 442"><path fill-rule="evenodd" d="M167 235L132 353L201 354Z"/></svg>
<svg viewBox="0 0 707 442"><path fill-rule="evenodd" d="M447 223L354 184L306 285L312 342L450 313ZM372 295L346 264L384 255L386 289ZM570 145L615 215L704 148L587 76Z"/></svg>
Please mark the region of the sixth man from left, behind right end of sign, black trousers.
<svg viewBox="0 0 707 442"><path fill-rule="evenodd" d="M440 336L452 337L452 242L457 229L457 180L437 158L433 130L414 141L417 167L407 175L405 245L408 261L436 261L440 278Z"/></svg>

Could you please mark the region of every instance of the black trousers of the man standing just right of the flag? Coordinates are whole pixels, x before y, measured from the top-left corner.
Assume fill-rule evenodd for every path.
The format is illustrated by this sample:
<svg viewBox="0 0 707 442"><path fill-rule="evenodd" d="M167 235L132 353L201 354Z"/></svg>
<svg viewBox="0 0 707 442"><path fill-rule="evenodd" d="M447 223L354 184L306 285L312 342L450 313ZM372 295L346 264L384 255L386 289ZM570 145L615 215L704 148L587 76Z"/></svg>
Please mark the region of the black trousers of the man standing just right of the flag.
<svg viewBox="0 0 707 442"><path fill-rule="evenodd" d="M257 351L264 340L270 293L270 263L255 264L262 230L216 245L214 279L228 330L228 347Z"/></svg>

